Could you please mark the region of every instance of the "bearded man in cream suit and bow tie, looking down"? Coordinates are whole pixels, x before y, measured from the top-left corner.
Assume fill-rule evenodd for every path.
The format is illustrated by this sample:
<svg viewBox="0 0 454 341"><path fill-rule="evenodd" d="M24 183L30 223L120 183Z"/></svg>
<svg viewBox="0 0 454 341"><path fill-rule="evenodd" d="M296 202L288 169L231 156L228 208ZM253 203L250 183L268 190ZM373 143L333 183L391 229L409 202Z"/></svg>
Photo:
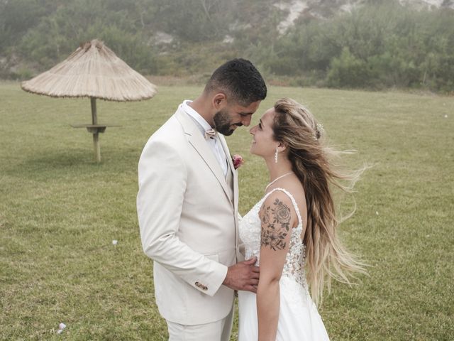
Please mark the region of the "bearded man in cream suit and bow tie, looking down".
<svg viewBox="0 0 454 341"><path fill-rule="evenodd" d="M140 237L170 340L228 341L234 291L256 291L255 259L239 252L238 178L224 136L249 126L266 93L252 63L230 60L140 156Z"/></svg>

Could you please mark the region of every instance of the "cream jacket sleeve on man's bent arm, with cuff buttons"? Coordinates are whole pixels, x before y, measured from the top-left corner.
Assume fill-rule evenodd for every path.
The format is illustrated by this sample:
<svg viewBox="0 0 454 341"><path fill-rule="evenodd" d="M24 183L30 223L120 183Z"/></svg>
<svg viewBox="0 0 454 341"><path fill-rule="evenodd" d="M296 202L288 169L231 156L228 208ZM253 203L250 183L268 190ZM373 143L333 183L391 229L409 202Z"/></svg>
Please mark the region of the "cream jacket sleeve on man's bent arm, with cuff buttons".
<svg viewBox="0 0 454 341"><path fill-rule="evenodd" d="M226 279L227 266L206 258L177 237L187 187L182 158L167 144L150 141L140 156L138 178L143 251L190 286L213 296Z"/></svg>

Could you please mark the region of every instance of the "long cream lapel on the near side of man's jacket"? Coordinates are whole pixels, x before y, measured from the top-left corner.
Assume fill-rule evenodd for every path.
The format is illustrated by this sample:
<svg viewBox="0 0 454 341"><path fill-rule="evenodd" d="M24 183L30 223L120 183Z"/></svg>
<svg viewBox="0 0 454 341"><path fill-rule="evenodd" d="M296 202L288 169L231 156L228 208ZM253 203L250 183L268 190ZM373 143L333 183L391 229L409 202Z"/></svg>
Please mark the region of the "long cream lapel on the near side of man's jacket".
<svg viewBox="0 0 454 341"><path fill-rule="evenodd" d="M218 182L223 188L223 191L230 199L230 196L228 195L226 178L224 178L221 166L216 160L213 151L211 151L211 148L206 143L204 136L202 136L201 132L199 131L199 129L197 129L195 123L188 117L186 112L184 112L180 108L177 110L177 119L179 123L182 124L184 133L187 134L187 140L189 141L189 144L191 144L197 151L197 153L199 153L201 158L206 163L206 166L208 166L214 176L216 176L216 179L218 179Z"/></svg>

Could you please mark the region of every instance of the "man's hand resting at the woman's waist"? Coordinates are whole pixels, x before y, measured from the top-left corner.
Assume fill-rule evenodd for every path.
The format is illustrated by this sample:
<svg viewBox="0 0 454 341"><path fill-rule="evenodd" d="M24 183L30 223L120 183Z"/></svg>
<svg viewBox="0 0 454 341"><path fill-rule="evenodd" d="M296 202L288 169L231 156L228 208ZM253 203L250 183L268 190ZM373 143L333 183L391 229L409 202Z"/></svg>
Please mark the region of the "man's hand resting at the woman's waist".
<svg viewBox="0 0 454 341"><path fill-rule="evenodd" d="M257 293L259 269L258 266L254 265L256 261L257 257L253 257L247 261L240 261L240 263L229 266L223 285L233 290Z"/></svg>

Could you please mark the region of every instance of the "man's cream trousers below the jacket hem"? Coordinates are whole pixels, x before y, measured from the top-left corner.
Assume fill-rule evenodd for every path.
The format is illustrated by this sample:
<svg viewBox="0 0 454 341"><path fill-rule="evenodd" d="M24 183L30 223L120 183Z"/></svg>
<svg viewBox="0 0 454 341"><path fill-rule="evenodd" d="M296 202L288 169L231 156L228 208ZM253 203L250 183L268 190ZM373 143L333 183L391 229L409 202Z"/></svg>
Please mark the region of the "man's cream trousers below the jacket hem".
<svg viewBox="0 0 454 341"><path fill-rule="evenodd" d="M213 323L204 325L180 325L167 322L169 341L229 341L233 325L233 306L230 313Z"/></svg>

